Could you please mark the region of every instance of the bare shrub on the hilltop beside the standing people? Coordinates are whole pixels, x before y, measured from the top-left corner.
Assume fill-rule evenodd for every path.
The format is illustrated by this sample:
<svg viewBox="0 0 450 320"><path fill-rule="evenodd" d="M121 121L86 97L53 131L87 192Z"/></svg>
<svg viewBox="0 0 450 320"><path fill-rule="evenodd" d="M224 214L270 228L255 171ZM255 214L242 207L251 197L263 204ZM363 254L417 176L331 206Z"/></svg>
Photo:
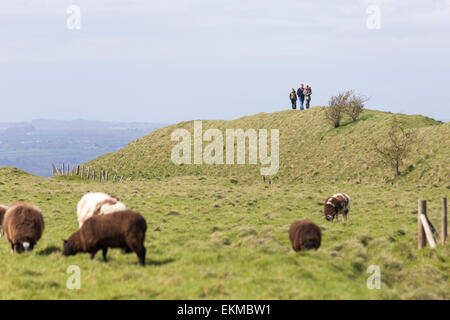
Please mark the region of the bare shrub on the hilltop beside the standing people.
<svg viewBox="0 0 450 320"><path fill-rule="evenodd" d="M352 121L356 121L364 111L364 103L367 100L367 98L355 94L353 90L341 92L330 98L325 117L334 128L341 125L344 115L348 115Z"/></svg>

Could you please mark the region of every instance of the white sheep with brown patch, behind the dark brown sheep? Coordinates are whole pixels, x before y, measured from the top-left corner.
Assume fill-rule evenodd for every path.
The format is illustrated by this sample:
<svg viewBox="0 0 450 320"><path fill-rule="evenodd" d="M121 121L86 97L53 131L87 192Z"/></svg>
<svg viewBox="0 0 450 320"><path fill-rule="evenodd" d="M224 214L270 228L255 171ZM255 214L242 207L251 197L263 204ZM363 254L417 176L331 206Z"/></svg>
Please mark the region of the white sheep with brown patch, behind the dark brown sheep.
<svg viewBox="0 0 450 320"><path fill-rule="evenodd" d="M119 199L101 192L85 194L77 205L79 227L92 216L110 214L117 211L126 211L125 204Z"/></svg>

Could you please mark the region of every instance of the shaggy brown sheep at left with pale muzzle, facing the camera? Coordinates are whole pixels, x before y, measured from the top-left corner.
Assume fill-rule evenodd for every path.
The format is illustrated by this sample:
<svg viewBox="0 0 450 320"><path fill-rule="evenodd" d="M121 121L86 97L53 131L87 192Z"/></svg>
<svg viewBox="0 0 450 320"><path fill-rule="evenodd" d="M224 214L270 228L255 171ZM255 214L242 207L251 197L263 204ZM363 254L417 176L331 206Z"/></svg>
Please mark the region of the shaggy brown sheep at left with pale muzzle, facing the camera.
<svg viewBox="0 0 450 320"><path fill-rule="evenodd" d="M33 250L44 232L44 217L41 210L27 202L13 203L3 219L6 239L11 250L17 253Z"/></svg>

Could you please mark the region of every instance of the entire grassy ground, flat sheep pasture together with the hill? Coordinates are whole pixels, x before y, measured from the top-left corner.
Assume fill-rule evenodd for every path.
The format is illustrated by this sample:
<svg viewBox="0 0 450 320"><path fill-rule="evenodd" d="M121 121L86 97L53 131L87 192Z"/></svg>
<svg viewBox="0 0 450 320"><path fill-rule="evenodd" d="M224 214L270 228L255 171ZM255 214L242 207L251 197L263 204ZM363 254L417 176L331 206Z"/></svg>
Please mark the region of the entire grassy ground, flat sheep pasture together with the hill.
<svg viewBox="0 0 450 320"><path fill-rule="evenodd" d="M360 122L330 130L321 120L322 109L311 111L243 118L248 127L274 128L280 117L294 126L280 131L280 178L270 185L261 181L254 166L172 170L173 164L164 160L168 147L150 159L149 150L157 151L151 142L156 144L159 137L162 148L162 139L167 143L173 128L157 130L91 163L130 174L133 181L46 179L0 168L0 203L36 204L46 223L43 238L31 253L11 255L7 241L0 239L0 298L450 299L450 242L435 250L416 249L417 200L428 200L429 218L438 228L440 199L448 196L448 123L401 116L423 140L417 147L421 153L405 164L405 174L392 180L390 170L372 164L364 149L358 151L367 144L362 132L381 134L385 130L380 126L392 115L370 111ZM260 118L272 119L274 125ZM295 134L297 140L286 140ZM330 141L339 142L332 147L339 156L326 157L321 151L320 144ZM346 170L332 174L339 168L336 159ZM147 177L139 172L151 173ZM88 254L61 255L62 239L78 228L76 204L89 191L113 194L144 215L145 268L134 254L119 250L110 251L107 263L101 254L93 261ZM335 192L346 192L353 199L347 224L323 218L323 202ZM304 218L322 228L322 246L294 253L287 230L293 220ZM81 268L80 290L66 287L71 265ZM366 285L371 265L380 267L378 290Z"/></svg>

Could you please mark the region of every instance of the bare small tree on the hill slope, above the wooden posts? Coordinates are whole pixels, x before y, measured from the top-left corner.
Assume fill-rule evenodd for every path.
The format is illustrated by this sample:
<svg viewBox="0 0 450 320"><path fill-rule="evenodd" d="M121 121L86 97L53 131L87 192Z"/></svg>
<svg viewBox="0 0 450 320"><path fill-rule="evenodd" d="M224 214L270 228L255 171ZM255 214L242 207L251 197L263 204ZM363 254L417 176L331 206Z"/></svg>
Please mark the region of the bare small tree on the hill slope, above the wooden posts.
<svg viewBox="0 0 450 320"><path fill-rule="evenodd" d="M374 148L380 160L395 170L395 176L399 176L400 166L408 157L415 141L415 132L407 130L394 118L387 135L381 141L374 142Z"/></svg>

